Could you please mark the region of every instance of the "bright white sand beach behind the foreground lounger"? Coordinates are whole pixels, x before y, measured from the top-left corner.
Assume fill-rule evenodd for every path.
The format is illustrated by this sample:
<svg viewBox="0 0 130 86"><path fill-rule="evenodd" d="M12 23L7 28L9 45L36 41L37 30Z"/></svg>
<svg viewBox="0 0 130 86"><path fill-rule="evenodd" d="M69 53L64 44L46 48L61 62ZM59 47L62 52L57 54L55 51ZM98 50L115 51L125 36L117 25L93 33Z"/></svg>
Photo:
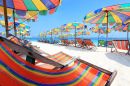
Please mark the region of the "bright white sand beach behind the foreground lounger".
<svg viewBox="0 0 130 86"><path fill-rule="evenodd" d="M79 57L87 62L95 64L109 71L117 70L117 75L111 86L129 86L130 85L130 56L123 53L111 53L111 48L106 52L105 47L97 47L98 49L82 49L73 46L62 46L58 44L48 44L41 42L32 42L41 50L50 55L60 51L73 56ZM125 52L125 51L124 51Z"/></svg>

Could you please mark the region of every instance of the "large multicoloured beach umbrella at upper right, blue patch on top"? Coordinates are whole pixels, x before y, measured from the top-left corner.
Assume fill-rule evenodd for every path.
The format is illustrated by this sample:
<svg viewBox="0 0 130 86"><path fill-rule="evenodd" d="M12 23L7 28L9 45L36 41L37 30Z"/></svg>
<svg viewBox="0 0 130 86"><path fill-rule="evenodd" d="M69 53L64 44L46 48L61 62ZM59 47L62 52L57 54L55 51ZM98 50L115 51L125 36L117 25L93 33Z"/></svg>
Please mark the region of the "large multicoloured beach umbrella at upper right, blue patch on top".
<svg viewBox="0 0 130 86"><path fill-rule="evenodd" d="M127 23L130 19L130 3L117 4L113 6L108 6L104 8L97 9L84 17L84 21L87 23L96 24L99 26L117 25L121 23ZM106 33L106 41L108 38L108 33ZM106 47L107 51L107 47Z"/></svg>

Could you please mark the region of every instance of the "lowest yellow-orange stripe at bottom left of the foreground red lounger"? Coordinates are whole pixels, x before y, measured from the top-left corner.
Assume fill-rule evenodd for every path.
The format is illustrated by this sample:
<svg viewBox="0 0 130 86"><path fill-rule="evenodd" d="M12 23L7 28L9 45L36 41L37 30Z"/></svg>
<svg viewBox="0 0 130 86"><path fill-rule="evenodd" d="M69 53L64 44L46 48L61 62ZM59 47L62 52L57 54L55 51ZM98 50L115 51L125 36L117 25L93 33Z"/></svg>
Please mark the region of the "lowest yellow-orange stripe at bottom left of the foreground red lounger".
<svg viewBox="0 0 130 86"><path fill-rule="evenodd" d="M2 71L6 72L8 75L10 75L10 76L13 77L14 79L16 79L19 83L26 84L26 85L28 85L28 86L35 86L35 85L33 85L33 84L29 84L29 83L27 83L27 82L25 82L25 81L23 81L23 80L17 78L17 77L14 76L13 74L11 74L7 69L5 69L2 65L0 65L0 68L2 68L2 69L1 69Z"/></svg>

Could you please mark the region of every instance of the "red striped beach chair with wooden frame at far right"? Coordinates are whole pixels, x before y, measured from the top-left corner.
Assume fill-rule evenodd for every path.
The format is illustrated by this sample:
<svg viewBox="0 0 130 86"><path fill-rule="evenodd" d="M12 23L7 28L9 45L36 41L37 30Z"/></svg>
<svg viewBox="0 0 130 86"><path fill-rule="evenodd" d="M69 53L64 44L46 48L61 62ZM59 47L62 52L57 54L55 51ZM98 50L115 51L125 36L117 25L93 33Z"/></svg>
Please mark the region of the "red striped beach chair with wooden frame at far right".
<svg viewBox="0 0 130 86"><path fill-rule="evenodd" d="M118 52L117 50L126 50L129 55L130 46L129 46L129 40L112 40L112 48L115 48L114 51ZM111 48L111 52L113 52Z"/></svg>

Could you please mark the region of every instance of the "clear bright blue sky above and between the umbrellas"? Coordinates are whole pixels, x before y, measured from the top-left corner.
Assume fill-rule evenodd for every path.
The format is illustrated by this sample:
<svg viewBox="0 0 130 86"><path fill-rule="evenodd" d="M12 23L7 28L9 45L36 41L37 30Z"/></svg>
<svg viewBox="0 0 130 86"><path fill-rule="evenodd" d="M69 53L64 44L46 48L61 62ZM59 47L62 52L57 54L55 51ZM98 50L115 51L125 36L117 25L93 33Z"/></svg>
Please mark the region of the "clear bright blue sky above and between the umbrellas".
<svg viewBox="0 0 130 86"><path fill-rule="evenodd" d="M49 31L51 29L60 27L63 24L72 22L82 22L85 15L99 8L129 3L129 0L62 0L61 5L57 8L57 12L51 15L41 16L38 15L37 22L24 22L30 26L31 36L36 37L39 33ZM4 17L0 18L0 21ZM88 28L94 25L88 25ZM5 32L5 28L0 26L0 31ZM87 30L89 31L89 30ZM71 30L73 33L74 30ZM90 31L91 32L91 31ZM105 35L101 35L105 36ZM126 37L126 32L112 31L108 37ZM91 33L89 37L98 37L97 33Z"/></svg>

